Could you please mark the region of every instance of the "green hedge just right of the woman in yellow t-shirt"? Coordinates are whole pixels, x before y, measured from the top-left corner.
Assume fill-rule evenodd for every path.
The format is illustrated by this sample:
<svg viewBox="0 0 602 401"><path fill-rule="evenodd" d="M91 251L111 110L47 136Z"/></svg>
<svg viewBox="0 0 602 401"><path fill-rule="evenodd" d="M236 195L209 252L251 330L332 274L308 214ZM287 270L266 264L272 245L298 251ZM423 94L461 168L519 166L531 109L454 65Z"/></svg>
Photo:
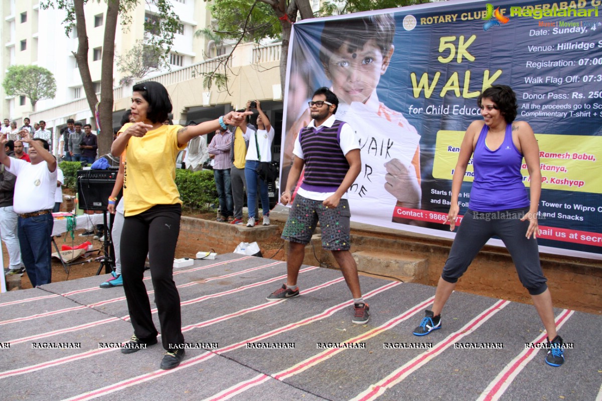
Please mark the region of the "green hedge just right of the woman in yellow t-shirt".
<svg viewBox="0 0 602 401"><path fill-rule="evenodd" d="M211 210L211 204L217 205L216 183L211 170L193 173L189 170L177 169L176 185L184 207L207 212Z"/></svg>

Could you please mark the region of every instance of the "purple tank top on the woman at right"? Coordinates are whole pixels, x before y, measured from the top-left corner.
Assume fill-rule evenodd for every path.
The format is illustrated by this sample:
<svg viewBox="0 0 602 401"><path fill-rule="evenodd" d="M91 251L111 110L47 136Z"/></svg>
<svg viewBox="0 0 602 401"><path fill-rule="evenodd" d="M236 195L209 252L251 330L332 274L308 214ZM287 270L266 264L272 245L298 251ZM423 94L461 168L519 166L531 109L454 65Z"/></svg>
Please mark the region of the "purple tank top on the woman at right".
<svg viewBox="0 0 602 401"><path fill-rule="evenodd" d="M468 207L476 212L529 207L529 195L521 174L523 155L512 142L512 124L506 126L504 141L494 151L485 145L488 132L489 127L483 126L474 147L474 182Z"/></svg>

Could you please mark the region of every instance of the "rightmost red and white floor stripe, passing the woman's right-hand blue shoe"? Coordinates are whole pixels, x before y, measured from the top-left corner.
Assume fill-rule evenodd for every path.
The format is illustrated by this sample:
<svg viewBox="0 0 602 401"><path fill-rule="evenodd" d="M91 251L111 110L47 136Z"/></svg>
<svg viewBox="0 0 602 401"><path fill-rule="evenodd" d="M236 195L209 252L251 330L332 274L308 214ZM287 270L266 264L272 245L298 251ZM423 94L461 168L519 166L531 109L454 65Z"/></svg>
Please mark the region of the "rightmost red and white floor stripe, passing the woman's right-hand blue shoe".
<svg viewBox="0 0 602 401"><path fill-rule="evenodd" d="M560 312L556 318L556 329L559 329L566 323L574 311L564 309ZM547 337L547 333L541 334L533 340L534 343L543 343ZM527 364L535 358L539 348L526 348L517 355L509 364L504 366L504 369L493 379L491 383L485 388L481 396L477 398L477 401L497 401L504 394L504 392L510 387L510 384L518 376L519 373L524 369Z"/></svg>

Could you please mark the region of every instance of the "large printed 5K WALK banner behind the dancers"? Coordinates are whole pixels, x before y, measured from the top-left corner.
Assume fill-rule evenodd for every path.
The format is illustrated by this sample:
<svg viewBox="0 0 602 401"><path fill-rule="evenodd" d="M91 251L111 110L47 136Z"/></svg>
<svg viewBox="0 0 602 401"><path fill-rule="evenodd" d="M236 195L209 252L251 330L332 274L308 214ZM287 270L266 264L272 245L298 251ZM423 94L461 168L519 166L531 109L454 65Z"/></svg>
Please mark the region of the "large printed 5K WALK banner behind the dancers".
<svg viewBox="0 0 602 401"><path fill-rule="evenodd" d="M326 86L361 147L352 220L453 237L442 222L462 138L495 84L514 89L539 143L540 250L602 259L601 0L448 1L295 23L280 188L307 102Z"/></svg>

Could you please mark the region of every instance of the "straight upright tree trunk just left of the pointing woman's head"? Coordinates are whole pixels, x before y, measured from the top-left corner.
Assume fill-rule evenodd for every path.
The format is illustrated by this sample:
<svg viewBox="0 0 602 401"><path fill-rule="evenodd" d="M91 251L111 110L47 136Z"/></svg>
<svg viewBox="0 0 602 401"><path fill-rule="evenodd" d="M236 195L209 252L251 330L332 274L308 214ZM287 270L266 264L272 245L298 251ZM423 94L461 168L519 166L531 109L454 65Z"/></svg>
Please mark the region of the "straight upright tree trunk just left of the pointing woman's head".
<svg viewBox="0 0 602 401"><path fill-rule="evenodd" d="M113 143L113 59L118 16L119 0L109 0L102 43L101 104L99 105L102 131L98 136L99 155L108 153Z"/></svg>

